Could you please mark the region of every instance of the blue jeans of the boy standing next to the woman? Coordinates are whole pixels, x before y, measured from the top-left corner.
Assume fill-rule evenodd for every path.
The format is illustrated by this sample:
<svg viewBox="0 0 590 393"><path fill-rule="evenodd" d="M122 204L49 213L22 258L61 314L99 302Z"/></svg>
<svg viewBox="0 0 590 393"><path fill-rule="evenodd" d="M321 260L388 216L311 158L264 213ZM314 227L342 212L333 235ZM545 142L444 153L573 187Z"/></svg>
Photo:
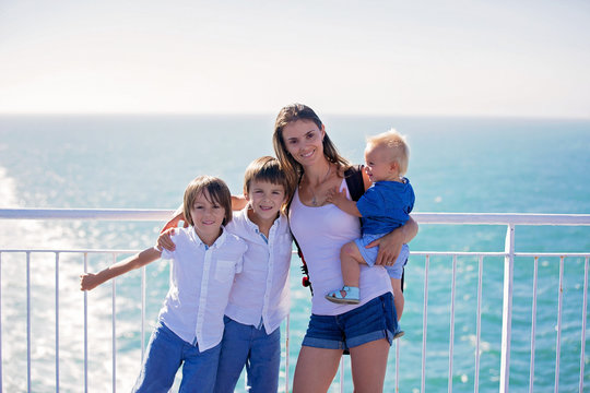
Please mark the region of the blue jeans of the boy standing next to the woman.
<svg viewBox="0 0 590 393"><path fill-rule="evenodd" d="M267 334L264 326L257 329L227 317L224 317L224 321L215 393L234 392L244 366L250 393L276 393L281 366L281 327Z"/></svg>

